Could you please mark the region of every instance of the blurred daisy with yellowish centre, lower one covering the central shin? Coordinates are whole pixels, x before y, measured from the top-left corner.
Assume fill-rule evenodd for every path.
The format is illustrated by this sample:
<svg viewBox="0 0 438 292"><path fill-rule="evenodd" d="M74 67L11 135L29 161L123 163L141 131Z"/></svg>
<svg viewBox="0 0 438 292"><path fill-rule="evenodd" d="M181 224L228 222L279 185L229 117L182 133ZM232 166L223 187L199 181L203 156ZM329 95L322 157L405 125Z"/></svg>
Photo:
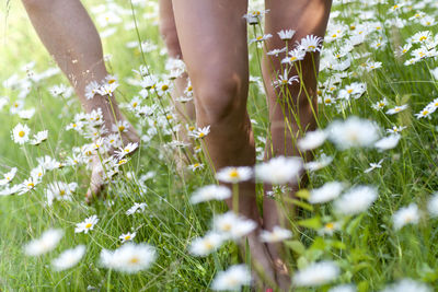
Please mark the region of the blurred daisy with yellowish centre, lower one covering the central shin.
<svg viewBox="0 0 438 292"><path fill-rule="evenodd" d="M226 238L239 240L253 232L257 223L244 217L238 217L233 211L214 218L214 230Z"/></svg>

